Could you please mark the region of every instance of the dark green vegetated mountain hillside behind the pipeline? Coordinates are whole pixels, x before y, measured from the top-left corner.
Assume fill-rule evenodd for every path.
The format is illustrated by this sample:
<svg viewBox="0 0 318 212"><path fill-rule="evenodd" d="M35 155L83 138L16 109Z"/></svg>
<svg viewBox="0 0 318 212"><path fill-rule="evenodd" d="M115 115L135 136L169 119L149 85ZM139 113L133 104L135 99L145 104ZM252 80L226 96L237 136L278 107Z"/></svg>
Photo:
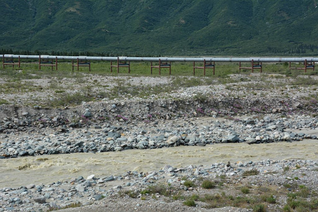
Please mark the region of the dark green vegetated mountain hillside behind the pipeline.
<svg viewBox="0 0 318 212"><path fill-rule="evenodd" d="M317 55L318 0L0 0L0 48Z"/></svg>

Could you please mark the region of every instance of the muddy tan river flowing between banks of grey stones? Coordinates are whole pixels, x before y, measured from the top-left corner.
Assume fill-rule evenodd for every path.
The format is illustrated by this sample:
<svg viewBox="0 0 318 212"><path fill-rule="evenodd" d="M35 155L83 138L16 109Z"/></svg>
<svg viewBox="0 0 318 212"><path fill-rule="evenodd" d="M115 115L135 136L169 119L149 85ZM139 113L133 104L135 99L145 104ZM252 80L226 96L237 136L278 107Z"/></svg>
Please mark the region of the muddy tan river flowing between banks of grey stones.
<svg viewBox="0 0 318 212"><path fill-rule="evenodd" d="M28 156L0 160L0 188L46 184L73 177L123 174L126 171L160 170L164 165L184 167L215 162L264 159L318 159L318 140L248 145L212 144L120 152Z"/></svg>

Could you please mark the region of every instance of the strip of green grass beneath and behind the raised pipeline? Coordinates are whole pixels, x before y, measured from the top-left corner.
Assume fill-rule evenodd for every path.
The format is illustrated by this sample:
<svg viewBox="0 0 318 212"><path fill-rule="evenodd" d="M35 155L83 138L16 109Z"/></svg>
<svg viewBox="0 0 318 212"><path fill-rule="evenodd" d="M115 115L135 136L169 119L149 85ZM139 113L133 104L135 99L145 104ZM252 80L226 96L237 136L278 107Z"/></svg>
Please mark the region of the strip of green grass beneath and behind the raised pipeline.
<svg viewBox="0 0 318 212"><path fill-rule="evenodd" d="M154 63L155 64L155 63ZM114 63L113 63L114 65ZM203 66L203 63L196 63L196 66ZM249 67L249 63L242 63L242 67ZM303 67L301 64L293 64L293 67ZM20 71L12 71L11 66L5 66L3 69L0 68L0 75L9 76L13 79L29 79L29 78L39 78L41 75L52 76L52 77L71 77L74 78L77 75L82 75L84 73L91 74L99 74L99 75L130 75L130 76L151 76L151 68L150 62L131 62L131 72L128 73L128 68L120 68L119 73L117 73L117 68L113 68L113 72L110 71L110 62L91 62L91 71L88 71L88 67L79 67L79 71L77 71L77 67L74 67L74 71L72 71L72 63L71 62L59 62L58 63L58 71L53 67L53 71L51 67L41 67L39 70L38 63L30 62L30 63L21 63L21 67L14 67L14 70ZM313 70L308 70L305 73L304 70L290 70L288 64L264 64L263 63L263 73L280 73L286 74L287 76L297 76L299 74L306 75L316 75L317 72ZM254 70L255 73L260 72L259 69ZM80 74L78 74L80 73ZM248 74L251 73L251 70L241 70L239 71L238 63L216 63L215 67L215 75L213 75L213 69L206 69L207 77L227 77L229 74L234 73L242 73ZM159 69L153 69L153 76L159 76ZM169 69L162 68L161 76L168 76ZM193 63L192 62L174 62L171 64L171 75L174 76L192 76L193 75ZM195 76L203 76L203 69L196 69Z"/></svg>

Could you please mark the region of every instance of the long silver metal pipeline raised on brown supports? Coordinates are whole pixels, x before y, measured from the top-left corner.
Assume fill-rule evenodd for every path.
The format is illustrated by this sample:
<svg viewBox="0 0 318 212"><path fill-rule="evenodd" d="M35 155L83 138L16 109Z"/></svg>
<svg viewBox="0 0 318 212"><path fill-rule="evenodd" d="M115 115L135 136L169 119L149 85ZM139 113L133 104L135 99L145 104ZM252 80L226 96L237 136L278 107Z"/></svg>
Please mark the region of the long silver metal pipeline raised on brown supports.
<svg viewBox="0 0 318 212"><path fill-rule="evenodd" d="M2 57L2 55L0 55ZM39 55L9 55L5 54L4 58L10 59L39 59ZM52 56L52 55L41 55L41 59L52 60L91 60L91 61L116 61L117 57L88 57L88 56ZM294 63L304 63L307 62L318 62L318 58L313 57L301 57L301 58L174 58L174 57L118 57L120 61L142 61L142 62L262 62L262 63L285 63L285 62L294 62Z"/></svg>

